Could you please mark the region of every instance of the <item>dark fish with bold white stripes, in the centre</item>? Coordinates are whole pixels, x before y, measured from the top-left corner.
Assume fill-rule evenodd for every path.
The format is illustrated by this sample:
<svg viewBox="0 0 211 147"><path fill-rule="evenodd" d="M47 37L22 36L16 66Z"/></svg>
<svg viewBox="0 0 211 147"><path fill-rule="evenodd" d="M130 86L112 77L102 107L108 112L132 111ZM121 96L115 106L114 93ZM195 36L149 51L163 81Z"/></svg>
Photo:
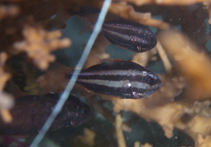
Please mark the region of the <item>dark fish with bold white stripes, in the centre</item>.
<svg viewBox="0 0 211 147"><path fill-rule="evenodd" d="M72 73L68 73L70 78ZM144 98L161 87L152 71L129 61L101 63L84 69L76 83L98 94L121 98Z"/></svg>

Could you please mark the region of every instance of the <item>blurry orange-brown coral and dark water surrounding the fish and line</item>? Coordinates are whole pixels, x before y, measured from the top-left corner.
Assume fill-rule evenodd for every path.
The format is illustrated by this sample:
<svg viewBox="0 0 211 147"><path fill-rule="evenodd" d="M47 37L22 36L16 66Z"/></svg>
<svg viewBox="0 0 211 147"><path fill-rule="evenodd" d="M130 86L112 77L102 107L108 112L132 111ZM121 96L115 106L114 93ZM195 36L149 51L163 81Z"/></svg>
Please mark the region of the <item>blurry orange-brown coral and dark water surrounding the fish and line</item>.
<svg viewBox="0 0 211 147"><path fill-rule="evenodd" d="M69 80L65 75L75 69L103 2L0 2L0 146L30 146L55 104L41 101L32 109L36 101L20 102L21 107L19 99L63 92ZM211 147L210 4L208 0L113 0L105 20L123 18L149 26L157 45L137 53L112 44L100 32L83 69L108 58L121 59L150 69L162 86L145 98L124 99L89 95L76 84L71 94L89 106L90 118L82 117L76 127L56 125L39 146ZM14 109L26 114L14 116ZM29 111L40 115L36 121L28 118ZM23 127L24 135L17 132L15 118L20 118L19 126L30 126ZM4 132L7 124L12 129Z"/></svg>

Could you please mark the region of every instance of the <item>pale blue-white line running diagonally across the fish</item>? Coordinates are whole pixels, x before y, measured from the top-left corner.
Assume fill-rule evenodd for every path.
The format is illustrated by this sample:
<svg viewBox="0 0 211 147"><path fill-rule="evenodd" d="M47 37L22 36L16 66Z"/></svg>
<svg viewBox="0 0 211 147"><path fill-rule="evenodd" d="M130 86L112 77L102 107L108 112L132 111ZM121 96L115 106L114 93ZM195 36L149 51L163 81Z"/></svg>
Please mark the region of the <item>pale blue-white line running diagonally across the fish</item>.
<svg viewBox="0 0 211 147"><path fill-rule="evenodd" d="M30 145L30 147L37 147L40 143L40 141L43 139L43 137L45 136L46 132L48 131L48 129L50 128L51 124L53 123L54 119L56 118L56 116L59 114L59 112L61 111L64 103L66 102L76 80L78 77L78 74L80 73L87 56L89 55L89 52L102 28L105 16L107 14L108 8L111 4L111 0L105 0L102 6L102 9L100 11L100 14L98 16L97 22L95 24L94 30L87 42L87 45L84 49L84 52L76 66L76 69L73 72L73 75L67 85L67 87L65 88L64 92L62 93L60 100L58 101L58 103L56 104L54 110L52 111L51 115L48 117L48 119L46 120L45 124L43 125L42 129L40 130L39 134L35 137L35 139L33 140L32 144Z"/></svg>

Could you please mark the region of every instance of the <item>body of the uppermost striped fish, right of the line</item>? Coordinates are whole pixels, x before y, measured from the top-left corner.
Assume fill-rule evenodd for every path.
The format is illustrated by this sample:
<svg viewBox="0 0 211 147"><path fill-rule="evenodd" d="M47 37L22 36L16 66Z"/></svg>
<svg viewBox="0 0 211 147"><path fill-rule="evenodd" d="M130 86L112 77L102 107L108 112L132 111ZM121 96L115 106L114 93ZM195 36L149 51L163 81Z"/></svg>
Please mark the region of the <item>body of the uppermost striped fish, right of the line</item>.
<svg viewBox="0 0 211 147"><path fill-rule="evenodd" d="M157 44L149 27L124 19L105 21L102 32L111 43L134 52L148 51Z"/></svg>

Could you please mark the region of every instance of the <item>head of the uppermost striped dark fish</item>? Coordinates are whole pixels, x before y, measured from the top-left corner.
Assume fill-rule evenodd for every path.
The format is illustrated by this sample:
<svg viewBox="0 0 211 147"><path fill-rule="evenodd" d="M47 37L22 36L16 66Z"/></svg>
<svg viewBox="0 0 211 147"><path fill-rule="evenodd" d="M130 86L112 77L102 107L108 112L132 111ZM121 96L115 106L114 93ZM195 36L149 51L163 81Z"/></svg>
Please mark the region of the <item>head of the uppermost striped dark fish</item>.
<svg viewBox="0 0 211 147"><path fill-rule="evenodd" d="M136 47L136 50L138 52L145 52L155 47L156 44L156 35L152 31L146 29L144 32L143 40L140 40L139 44Z"/></svg>

